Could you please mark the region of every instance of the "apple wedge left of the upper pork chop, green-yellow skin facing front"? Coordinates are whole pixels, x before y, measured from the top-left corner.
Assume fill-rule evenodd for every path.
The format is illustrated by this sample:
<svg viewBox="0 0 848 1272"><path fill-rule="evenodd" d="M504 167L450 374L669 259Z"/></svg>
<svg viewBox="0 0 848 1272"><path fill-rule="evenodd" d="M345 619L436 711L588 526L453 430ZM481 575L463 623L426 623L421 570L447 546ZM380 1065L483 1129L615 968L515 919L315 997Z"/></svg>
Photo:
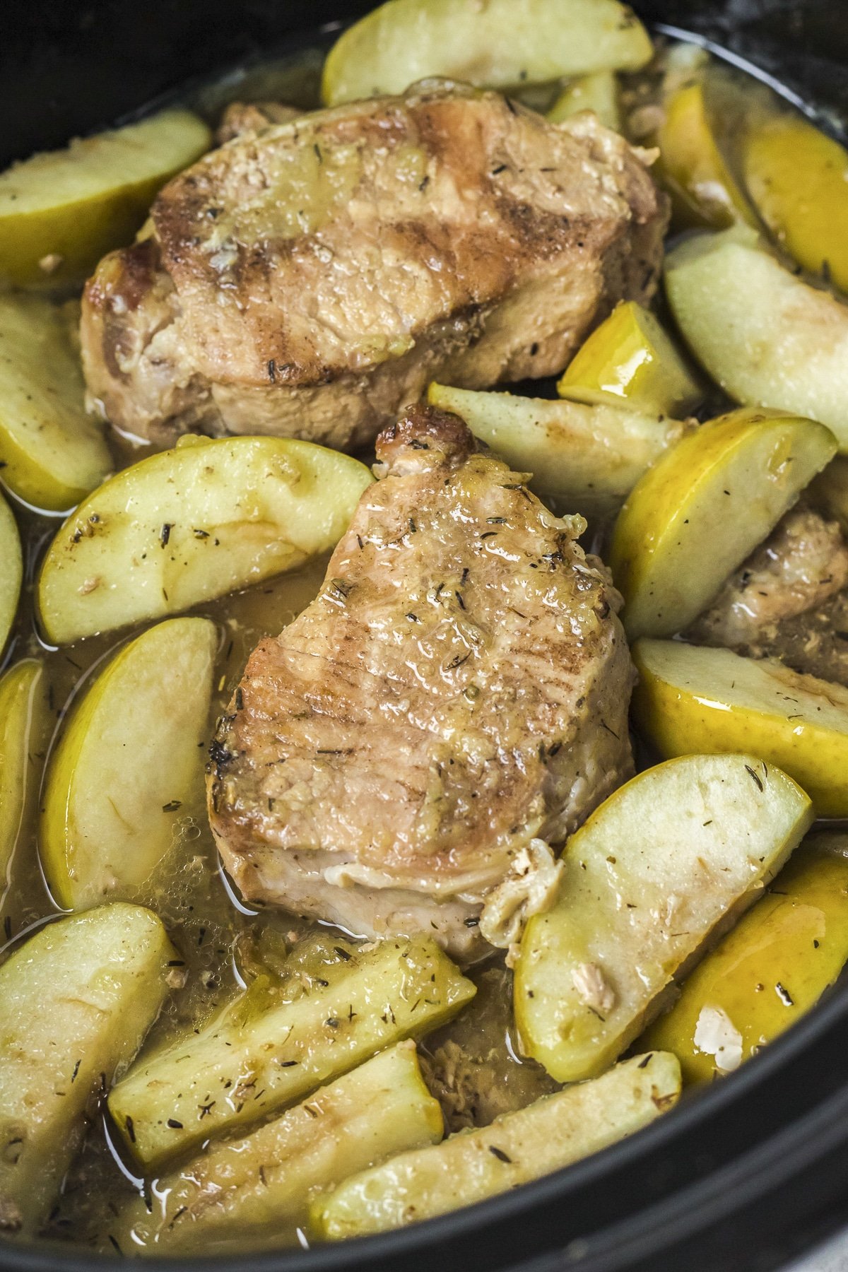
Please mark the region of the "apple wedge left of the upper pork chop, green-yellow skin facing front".
<svg viewBox="0 0 848 1272"><path fill-rule="evenodd" d="M132 242L154 196L211 145L189 111L75 140L0 173L0 277L17 287L81 282Z"/></svg>

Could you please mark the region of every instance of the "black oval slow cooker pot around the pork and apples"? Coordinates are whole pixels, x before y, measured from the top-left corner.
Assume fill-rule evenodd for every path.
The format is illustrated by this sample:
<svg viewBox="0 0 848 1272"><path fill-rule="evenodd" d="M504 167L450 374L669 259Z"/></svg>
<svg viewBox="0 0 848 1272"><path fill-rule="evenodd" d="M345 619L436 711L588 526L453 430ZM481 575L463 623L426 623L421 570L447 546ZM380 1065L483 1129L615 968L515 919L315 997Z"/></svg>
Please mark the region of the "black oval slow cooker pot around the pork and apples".
<svg viewBox="0 0 848 1272"><path fill-rule="evenodd" d="M132 116L235 62L314 42L343 0L0 0L0 165ZM646 0L777 76L834 135L848 120L848 0ZM848 226L845 226L848 233ZM221 1272L768 1272L848 1225L848 987L754 1063L632 1140L402 1233L239 1259ZM462 1179L456 1196L462 1199ZM122 1259L0 1243L5 1272Z"/></svg>

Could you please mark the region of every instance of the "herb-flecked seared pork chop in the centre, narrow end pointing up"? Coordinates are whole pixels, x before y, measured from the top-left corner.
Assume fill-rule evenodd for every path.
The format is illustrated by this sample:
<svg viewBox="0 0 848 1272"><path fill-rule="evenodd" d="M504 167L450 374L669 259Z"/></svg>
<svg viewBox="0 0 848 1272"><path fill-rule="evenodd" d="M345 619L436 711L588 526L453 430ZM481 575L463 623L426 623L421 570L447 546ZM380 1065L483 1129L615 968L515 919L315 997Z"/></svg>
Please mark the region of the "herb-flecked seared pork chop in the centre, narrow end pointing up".
<svg viewBox="0 0 848 1272"><path fill-rule="evenodd" d="M549 845L632 771L620 603L455 416L378 439L317 599L248 660L209 778L248 899L360 935L507 945L552 897Z"/></svg>

